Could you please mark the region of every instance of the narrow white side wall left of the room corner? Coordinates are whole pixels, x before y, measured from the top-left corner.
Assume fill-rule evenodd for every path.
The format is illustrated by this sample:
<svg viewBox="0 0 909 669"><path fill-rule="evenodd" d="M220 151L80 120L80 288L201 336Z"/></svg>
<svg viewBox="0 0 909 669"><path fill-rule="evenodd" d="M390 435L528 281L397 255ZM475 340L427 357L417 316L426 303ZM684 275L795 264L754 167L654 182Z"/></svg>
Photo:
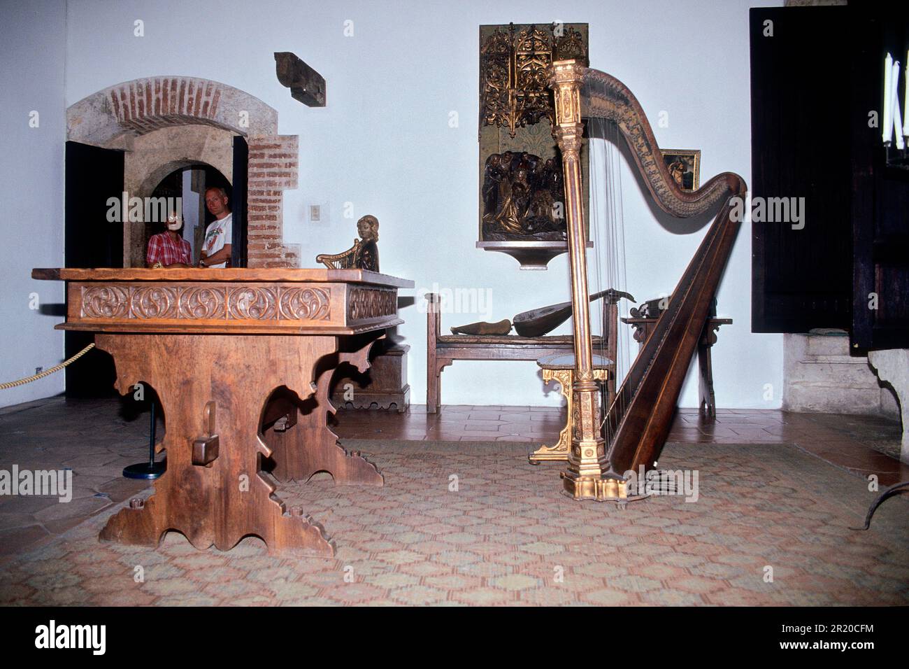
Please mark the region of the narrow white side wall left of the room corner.
<svg viewBox="0 0 909 669"><path fill-rule="evenodd" d="M63 263L65 5L5 3L0 9L0 382L63 360L63 285L31 279L32 268ZM38 127L29 115L38 112ZM35 304L36 293L39 309ZM0 407L61 392L63 372L0 390Z"/></svg>

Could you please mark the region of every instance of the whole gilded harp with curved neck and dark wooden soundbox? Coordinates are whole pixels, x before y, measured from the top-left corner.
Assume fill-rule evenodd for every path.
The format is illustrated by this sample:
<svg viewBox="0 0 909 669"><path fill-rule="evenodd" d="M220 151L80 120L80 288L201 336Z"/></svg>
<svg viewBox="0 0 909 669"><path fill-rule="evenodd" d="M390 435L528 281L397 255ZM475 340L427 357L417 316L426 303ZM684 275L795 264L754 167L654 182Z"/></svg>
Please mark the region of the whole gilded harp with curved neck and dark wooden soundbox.
<svg viewBox="0 0 909 669"><path fill-rule="evenodd" d="M653 130L624 84L571 60L555 62L551 74L556 135L564 159L576 362L574 430L568 467L562 473L564 490L575 499L624 502L625 472L638 466L652 468L663 447L685 373L738 233L740 221L734 217L734 198L744 198L746 187L742 177L727 172L697 190L683 191L669 175ZM582 175L578 167L582 117L616 124L651 196L666 213L694 217L722 204L663 316L655 323L653 334L616 391L605 420L591 368Z"/></svg>

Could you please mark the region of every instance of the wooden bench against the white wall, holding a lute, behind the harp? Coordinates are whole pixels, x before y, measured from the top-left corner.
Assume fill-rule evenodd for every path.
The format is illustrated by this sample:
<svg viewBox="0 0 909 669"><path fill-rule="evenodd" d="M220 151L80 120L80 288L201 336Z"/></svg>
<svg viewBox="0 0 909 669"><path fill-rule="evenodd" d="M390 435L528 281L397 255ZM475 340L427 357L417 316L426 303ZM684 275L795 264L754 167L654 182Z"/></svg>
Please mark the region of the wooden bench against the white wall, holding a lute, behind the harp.
<svg viewBox="0 0 909 669"><path fill-rule="evenodd" d="M454 360L540 360L548 356L574 353L574 337L571 335L545 335L544 337L520 337L518 335L480 336L444 335L439 296L426 293L426 411L435 413L442 406L442 370ZM594 336L594 353L604 353L615 360L616 327L618 304L605 301L603 331L604 337ZM605 342L605 346L604 346ZM607 381L609 397L615 395L615 376Z"/></svg>

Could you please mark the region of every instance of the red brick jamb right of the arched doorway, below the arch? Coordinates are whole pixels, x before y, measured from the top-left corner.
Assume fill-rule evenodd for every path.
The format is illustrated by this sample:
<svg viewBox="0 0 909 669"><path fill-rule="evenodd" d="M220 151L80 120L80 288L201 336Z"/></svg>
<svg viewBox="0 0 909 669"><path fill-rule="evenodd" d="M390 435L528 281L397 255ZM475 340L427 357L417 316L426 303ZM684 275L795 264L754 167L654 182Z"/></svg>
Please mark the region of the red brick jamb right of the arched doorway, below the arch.
<svg viewBox="0 0 909 669"><path fill-rule="evenodd" d="M249 144L248 267L299 267L299 253L284 244L284 191L297 187L299 137L247 137Z"/></svg>

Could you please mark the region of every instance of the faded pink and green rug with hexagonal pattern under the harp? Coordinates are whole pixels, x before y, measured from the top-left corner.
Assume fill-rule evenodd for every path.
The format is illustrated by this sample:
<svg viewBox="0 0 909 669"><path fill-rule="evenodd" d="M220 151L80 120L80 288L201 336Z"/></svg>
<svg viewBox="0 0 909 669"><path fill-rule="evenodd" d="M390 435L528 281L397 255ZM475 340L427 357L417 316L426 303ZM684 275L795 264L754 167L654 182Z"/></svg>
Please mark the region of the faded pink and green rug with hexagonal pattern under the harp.
<svg viewBox="0 0 909 669"><path fill-rule="evenodd" d="M696 493L622 509L560 494L559 466L529 466L523 443L347 443L384 486L277 491L325 526L333 557L269 554L255 537L219 551L178 532L99 542L99 513L0 563L0 605L909 603L907 501L855 532L874 493L789 445L670 443L661 467L698 472Z"/></svg>

